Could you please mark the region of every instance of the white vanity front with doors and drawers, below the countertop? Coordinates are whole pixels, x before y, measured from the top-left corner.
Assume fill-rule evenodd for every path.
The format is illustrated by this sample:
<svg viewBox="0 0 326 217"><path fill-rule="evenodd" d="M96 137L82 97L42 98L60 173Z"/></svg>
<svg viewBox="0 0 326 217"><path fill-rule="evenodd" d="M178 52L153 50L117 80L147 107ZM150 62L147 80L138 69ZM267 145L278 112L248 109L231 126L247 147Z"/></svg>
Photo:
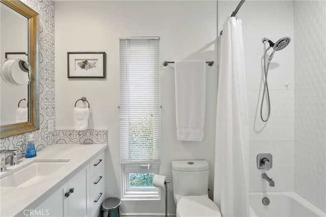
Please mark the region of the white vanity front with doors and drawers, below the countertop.
<svg viewBox="0 0 326 217"><path fill-rule="evenodd" d="M41 205L32 209L35 213L30 216L98 217L104 197L104 152L101 152Z"/></svg>

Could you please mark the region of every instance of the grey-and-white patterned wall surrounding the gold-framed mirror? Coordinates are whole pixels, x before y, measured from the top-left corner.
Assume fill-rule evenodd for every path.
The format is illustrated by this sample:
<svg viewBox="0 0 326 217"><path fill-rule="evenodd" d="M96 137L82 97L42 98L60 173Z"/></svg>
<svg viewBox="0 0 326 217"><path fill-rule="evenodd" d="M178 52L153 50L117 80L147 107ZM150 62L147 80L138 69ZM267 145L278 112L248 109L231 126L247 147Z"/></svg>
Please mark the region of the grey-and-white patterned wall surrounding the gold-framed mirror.
<svg viewBox="0 0 326 217"><path fill-rule="evenodd" d="M33 132L36 149L55 143L55 131L48 131L48 121L55 125L55 3L52 0L22 0L40 14L39 24L39 80L40 80L40 130ZM50 121L50 122L51 122ZM52 126L55 129L55 126ZM3 148L26 149L26 134L0 140Z"/></svg>

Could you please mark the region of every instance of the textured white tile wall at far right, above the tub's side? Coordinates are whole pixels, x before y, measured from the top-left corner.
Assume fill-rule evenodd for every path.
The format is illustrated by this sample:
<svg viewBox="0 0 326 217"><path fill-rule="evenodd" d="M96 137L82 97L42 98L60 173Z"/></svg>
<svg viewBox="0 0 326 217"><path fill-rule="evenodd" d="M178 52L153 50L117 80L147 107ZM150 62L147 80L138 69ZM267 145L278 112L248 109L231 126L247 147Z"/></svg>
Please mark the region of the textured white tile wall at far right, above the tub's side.
<svg viewBox="0 0 326 217"><path fill-rule="evenodd" d="M326 211L326 2L294 2L294 190Z"/></svg>

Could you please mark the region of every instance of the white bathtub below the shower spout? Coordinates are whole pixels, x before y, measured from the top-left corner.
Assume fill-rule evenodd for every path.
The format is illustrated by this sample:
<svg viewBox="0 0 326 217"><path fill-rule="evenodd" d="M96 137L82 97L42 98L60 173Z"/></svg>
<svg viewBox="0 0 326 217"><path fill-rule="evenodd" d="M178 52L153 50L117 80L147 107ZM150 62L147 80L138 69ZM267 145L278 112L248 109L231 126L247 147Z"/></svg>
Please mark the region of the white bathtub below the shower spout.
<svg viewBox="0 0 326 217"><path fill-rule="evenodd" d="M263 197L269 199L269 205L262 203ZM326 216L325 212L294 192L251 192L249 201L253 212L251 216Z"/></svg>

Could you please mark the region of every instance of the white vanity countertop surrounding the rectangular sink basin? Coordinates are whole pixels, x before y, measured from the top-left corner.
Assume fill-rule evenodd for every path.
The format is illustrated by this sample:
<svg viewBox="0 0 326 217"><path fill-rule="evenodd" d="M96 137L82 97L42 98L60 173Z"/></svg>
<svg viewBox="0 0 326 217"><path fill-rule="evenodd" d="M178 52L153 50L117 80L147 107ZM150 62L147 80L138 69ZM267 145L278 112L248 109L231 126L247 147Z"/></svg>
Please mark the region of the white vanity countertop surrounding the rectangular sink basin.
<svg viewBox="0 0 326 217"><path fill-rule="evenodd" d="M107 147L107 144L55 144L37 151L35 158L22 158L18 165L7 166L6 172L0 172L0 178L31 161L69 160L39 183L29 187L0 188L0 216L23 215L24 209L36 208Z"/></svg>

